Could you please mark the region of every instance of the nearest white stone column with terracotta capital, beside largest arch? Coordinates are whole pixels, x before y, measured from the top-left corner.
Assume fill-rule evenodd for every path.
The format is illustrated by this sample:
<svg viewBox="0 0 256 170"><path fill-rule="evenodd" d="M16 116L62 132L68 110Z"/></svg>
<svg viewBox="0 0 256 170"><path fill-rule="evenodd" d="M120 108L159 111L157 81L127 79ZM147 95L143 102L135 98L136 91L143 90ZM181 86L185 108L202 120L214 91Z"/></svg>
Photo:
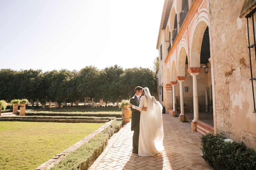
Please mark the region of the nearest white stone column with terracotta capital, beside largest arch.
<svg viewBox="0 0 256 170"><path fill-rule="evenodd" d="M194 119L191 122L191 131L195 132L196 121L199 120L198 110L198 88L197 88L197 75L201 72L202 68L189 68L188 73L193 76L193 102L194 102Z"/></svg>

